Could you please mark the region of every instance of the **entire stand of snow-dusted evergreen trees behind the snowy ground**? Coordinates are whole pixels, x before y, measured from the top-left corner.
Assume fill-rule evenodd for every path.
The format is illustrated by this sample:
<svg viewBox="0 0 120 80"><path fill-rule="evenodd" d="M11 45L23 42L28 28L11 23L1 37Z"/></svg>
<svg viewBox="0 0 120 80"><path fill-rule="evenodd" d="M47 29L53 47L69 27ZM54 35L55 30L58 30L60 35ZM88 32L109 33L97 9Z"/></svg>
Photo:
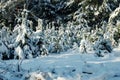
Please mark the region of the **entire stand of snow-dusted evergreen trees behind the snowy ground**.
<svg viewBox="0 0 120 80"><path fill-rule="evenodd" d="M104 56L119 44L119 13L119 0L1 0L0 58L75 48Z"/></svg>

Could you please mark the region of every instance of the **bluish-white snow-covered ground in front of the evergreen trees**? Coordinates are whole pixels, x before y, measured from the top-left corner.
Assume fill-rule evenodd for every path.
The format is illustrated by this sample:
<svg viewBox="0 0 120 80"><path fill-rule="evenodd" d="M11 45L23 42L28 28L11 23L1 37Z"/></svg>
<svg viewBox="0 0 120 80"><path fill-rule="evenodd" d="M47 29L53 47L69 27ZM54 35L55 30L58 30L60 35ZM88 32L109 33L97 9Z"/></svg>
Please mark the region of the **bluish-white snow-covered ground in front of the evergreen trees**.
<svg viewBox="0 0 120 80"><path fill-rule="evenodd" d="M18 72L20 64L20 72ZM120 49L104 57L68 50L36 59L0 61L0 80L120 80Z"/></svg>

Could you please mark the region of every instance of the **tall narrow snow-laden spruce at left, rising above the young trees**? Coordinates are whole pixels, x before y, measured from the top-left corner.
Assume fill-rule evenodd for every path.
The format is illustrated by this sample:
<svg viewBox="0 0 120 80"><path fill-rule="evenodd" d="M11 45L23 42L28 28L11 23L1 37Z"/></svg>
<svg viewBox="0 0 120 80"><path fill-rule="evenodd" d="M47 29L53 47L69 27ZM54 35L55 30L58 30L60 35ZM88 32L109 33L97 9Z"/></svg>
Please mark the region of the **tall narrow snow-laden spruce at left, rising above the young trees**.
<svg viewBox="0 0 120 80"><path fill-rule="evenodd" d="M14 59L24 59L28 57L28 55L32 55L32 53L27 53L25 46L28 46L29 41L29 34L31 34L31 30L28 27L28 20L27 20L28 12L26 9L23 10L21 13L21 21L22 23L18 23L13 29L13 33L10 36L11 41L9 42L9 49L11 55L14 55ZM13 54L14 53L14 54Z"/></svg>

